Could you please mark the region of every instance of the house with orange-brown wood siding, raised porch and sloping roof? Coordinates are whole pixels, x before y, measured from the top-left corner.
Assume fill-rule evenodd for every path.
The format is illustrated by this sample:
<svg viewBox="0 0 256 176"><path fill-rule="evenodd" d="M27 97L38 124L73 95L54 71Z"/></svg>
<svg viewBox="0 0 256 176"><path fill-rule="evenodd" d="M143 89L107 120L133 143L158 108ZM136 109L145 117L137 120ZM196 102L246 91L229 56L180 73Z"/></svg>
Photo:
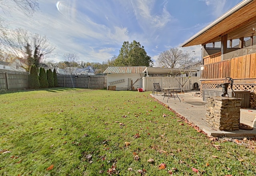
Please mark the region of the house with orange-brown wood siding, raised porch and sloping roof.
<svg viewBox="0 0 256 176"><path fill-rule="evenodd" d="M256 0L244 0L180 46L202 45L200 92L234 79L233 89L250 91L256 108Z"/></svg>

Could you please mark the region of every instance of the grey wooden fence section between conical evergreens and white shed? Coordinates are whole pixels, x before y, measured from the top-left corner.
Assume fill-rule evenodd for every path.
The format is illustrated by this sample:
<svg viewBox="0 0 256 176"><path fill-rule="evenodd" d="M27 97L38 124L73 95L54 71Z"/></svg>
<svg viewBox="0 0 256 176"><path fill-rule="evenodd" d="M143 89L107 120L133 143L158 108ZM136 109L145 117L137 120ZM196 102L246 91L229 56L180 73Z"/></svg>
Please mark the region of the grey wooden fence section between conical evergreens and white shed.
<svg viewBox="0 0 256 176"><path fill-rule="evenodd" d="M98 75L57 75L58 86L73 88L106 88L107 76Z"/></svg>

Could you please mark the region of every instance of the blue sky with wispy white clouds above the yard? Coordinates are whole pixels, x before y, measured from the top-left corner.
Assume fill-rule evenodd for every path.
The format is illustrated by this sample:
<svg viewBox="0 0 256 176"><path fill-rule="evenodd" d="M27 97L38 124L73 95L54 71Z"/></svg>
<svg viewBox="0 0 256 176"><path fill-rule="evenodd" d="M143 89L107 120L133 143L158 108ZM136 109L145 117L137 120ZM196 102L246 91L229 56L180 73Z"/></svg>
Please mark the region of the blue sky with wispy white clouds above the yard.
<svg viewBox="0 0 256 176"><path fill-rule="evenodd" d="M80 61L102 62L118 55L124 41L136 40L153 60L177 47L242 0L38 0L31 17L14 11L10 28L46 35L56 45L56 62L65 52ZM201 47L182 48L195 51Z"/></svg>

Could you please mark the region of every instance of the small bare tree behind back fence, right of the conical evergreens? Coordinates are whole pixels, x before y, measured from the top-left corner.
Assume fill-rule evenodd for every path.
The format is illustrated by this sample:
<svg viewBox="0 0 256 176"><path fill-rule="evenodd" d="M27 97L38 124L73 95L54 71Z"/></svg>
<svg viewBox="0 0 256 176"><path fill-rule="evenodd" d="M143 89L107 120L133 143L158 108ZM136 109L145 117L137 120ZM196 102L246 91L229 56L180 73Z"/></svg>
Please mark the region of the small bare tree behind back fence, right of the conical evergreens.
<svg viewBox="0 0 256 176"><path fill-rule="evenodd" d="M68 70L69 74L73 74L74 71L74 67L78 66L78 60L79 60L79 56L76 53L65 53L62 58L66 61L66 70Z"/></svg>

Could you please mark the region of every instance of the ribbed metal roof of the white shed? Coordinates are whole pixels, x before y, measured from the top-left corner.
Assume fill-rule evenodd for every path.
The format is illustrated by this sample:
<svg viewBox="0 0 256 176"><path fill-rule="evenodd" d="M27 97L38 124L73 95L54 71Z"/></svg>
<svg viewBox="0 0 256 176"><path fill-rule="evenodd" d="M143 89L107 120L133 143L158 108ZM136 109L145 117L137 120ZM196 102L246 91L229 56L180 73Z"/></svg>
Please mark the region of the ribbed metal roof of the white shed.
<svg viewBox="0 0 256 176"><path fill-rule="evenodd" d="M146 66L108 67L103 73L138 74L144 73L145 69Z"/></svg>

